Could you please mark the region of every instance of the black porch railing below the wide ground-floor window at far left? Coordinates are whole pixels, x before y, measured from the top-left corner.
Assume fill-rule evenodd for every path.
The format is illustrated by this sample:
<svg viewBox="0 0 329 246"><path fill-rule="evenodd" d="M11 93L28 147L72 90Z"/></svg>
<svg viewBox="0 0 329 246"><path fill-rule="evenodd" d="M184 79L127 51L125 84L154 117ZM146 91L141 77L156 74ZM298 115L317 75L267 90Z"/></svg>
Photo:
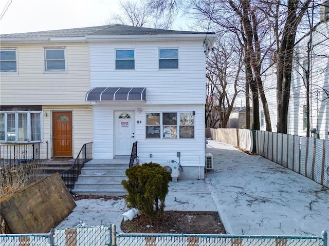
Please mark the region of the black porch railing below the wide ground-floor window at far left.
<svg viewBox="0 0 329 246"><path fill-rule="evenodd" d="M40 142L26 144L1 144L0 165L13 167L19 162L39 160Z"/></svg>

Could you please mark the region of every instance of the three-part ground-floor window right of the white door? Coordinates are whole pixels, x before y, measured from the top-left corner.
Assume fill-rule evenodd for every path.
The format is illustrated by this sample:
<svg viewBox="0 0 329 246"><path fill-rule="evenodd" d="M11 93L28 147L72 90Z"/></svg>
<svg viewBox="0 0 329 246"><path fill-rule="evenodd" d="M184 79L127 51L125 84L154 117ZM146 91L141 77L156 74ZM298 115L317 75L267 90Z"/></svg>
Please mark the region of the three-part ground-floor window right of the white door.
<svg viewBox="0 0 329 246"><path fill-rule="evenodd" d="M147 138L194 138L194 112L146 114Z"/></svg>

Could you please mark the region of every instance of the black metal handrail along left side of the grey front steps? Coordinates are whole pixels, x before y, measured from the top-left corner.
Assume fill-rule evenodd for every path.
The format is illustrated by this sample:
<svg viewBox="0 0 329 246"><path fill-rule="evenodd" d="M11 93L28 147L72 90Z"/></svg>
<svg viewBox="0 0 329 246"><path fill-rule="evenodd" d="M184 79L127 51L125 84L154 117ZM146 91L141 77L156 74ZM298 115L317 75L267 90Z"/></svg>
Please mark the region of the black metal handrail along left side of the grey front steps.
<svg viewBox="0 0 329 246"><path fill-rule="evenodd" d="M60 176L63 179L63 182L65 183L66 189L71 193L76 181L78 180L79 175L81 174L81 169L84 166L84 163L86 163L89 160L93 159L93 142L88 142L87 144L84 144L72 164L72 166L61 172Z"/></svg>

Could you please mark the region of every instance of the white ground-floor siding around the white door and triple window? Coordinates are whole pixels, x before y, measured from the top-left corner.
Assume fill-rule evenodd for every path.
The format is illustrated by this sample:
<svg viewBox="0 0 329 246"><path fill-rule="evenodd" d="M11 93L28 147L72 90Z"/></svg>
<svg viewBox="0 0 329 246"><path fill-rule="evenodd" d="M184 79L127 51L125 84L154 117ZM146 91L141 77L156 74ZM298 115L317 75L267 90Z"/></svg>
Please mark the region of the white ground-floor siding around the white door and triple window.
<svg viewBox="0 0 329 246"><path fill-rule="evenodd" d="M114 110L106 105L94 107L94 158L106 159L114 156ZM181 152L180 163L184 166L204 167L205 165L205 126L203 105L158 105L143 106L138 112L135 110L135 140L138 141L138 156L140 163L166 163L177 160L177 151ZM130 110L131 106L120 106L116 110ZM146 138L145 115L152 112L192 112L194 115L194 138ZM166 150L166 151L164 151ZM152 154L152 158L150 157ZM202 169L203 172L203 169Z"/></svg>

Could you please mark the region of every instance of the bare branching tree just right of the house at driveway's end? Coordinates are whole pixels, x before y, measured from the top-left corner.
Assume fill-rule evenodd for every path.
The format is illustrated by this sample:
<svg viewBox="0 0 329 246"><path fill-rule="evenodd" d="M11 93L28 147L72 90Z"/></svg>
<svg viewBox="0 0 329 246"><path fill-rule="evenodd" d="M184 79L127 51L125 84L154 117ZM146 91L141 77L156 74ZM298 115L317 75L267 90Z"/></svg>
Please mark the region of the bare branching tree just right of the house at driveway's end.
<svg viewBox="0 0 329 246"><path fill-rule="evenodd" d="M241 47L235 46L234 35L219 36L214 52L207 59L206 78L209 84L206 126L215 127L220 122L221 127L226 128L235 99L242 91L240 77L243 51Z"/></svg>

